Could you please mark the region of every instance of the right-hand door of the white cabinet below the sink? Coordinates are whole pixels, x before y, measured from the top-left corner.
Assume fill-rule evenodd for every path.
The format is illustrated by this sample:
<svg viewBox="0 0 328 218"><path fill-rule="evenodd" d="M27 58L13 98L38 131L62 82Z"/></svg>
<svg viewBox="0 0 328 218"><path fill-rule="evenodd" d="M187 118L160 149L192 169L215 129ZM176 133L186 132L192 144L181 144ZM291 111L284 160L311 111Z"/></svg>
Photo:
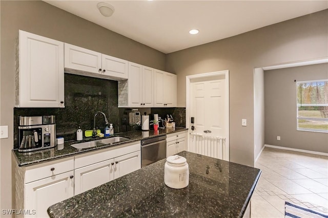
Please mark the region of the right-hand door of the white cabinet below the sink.
<svg viewBox="0 0 328 218"><path fill-rule="evenodd" d="M116 157L114 161L114 179L117 179L141 168L141 151Z"/></svg>

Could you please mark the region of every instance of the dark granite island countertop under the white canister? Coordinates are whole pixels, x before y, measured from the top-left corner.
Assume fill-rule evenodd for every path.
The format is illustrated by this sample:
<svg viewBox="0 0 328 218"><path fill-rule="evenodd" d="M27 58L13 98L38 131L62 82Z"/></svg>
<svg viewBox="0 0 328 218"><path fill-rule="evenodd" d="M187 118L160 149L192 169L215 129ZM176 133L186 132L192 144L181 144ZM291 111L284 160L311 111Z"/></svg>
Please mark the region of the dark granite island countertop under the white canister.
<svg viewBox="0 0 328 218"><path fill-rule="evenodd" d="M164 183L160 160L48 208L50 217L242 217L260 169L183 151L189 185Z"/></svg>

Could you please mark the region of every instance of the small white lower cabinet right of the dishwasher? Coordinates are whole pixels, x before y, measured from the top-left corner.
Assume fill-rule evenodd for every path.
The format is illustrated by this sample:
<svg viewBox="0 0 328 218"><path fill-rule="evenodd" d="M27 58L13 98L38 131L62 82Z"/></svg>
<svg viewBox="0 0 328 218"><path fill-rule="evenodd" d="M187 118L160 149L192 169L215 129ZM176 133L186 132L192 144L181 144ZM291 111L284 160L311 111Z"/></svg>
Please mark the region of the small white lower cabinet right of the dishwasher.
<svg viewBox="0 0 328 218"><path fill-rule="evenodd" d="M167 136L167 157L187 150L187 133L179 132Z"/></svg>

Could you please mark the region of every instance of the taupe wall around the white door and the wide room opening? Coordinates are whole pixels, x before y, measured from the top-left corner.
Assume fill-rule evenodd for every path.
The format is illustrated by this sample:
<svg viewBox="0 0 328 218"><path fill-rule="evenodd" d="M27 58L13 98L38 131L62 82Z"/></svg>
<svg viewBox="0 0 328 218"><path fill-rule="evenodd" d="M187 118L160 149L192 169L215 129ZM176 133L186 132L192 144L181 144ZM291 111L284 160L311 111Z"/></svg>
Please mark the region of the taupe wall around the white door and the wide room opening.
<svg viewBox="0 0 328 218"><path fill-rule="evenodd" d="M265 19L265 17L259 17ZM328 10L167 55L177 74L178 107L186 106L186 76L229 69L230 160L254 165L254 68L328 56ZM241 119L247 119L247 127Z"/></svg>

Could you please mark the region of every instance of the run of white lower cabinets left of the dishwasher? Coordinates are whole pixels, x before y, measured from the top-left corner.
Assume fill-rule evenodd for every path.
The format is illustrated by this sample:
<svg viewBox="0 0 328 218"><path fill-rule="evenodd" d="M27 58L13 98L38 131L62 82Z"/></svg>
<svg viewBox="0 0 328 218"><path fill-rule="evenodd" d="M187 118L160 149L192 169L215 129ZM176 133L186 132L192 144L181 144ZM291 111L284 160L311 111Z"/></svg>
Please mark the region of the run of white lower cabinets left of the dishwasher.
<svg viewBox="0 0 328 218"><path fill-rule="evenodd" d="M140 141L31 166L16 164L15 207L25 211L16 217L48 217L49 206L139 168Z"/></svg>

